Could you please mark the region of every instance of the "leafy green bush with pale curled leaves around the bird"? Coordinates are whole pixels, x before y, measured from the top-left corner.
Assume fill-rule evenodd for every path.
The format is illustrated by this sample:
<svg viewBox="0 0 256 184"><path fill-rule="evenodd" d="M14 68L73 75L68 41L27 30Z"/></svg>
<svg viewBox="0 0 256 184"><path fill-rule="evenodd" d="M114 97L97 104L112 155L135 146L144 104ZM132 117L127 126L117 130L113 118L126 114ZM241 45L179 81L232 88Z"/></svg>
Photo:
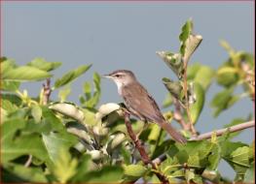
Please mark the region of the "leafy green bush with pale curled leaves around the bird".
<svg viewBox="0 0 256 184"><path fill-rule="evenodd" d="M168 90L164 107L166 120L181 125L181 133L189 139L186 145L166 138L156 124L150 124L139 135L137 144L130 134L138 134L144 122L124 121L124 106L109 103L96 107L100 98L100 77L93 75L93 85L85 82L80 105L66 102L69 84L85 74L84 65L55 79L52 72L61 63L36 58L25 66L9 58L1 58L1 169L3 182L149 182L187 181L219 183L225 179L217 169L225 160L237 173L234 181L253 182L254 141L248 145L233 141L240 130L254 126L252 118L236 118L225 130L198 135L196 124L201 115L205 95L212 82L223 87L211 101L214 116L247 97L254 100L253 56L236 51L222 42L229 58L214 70L195 63L191 55L201 44L201 35L193 33L188 20L179 36L177 53L158 51L158 55L177 76L164 77ZM29 73L27 72L29 71ZM21 82L45 80L38 97L20 91ZM242 86L242 94L235 94ZM51 92L58 90L58 99ZM128 123L132 132L128 131ZM143 163L146 151L149 165ZM142 158L142 159L141 159ZM147 159L147 158L146 158Z"/></svg>

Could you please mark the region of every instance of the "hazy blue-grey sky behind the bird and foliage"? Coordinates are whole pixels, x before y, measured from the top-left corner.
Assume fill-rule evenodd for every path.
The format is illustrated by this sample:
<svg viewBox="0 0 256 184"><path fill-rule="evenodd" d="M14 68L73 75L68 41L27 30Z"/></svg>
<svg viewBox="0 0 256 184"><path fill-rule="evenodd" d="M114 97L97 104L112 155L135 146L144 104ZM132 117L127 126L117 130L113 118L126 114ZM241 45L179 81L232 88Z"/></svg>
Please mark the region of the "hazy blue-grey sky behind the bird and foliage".
<svg viewBox="0 0 256 184"><path fill-rule="evenodd" d="M18 64L35 57L61 61L56 77L83 64L93 64L90 72L72 85L68 100L78 102L82 84L92 73L107 74L117 69L135 73L161 104L165 99L162 77L174 77L157 50L177 51L180 27L192 17L195 32L203 37L191 59L217 68L228 57L219 40L236 49L253 51L252 2L2 2L2 50ZM32 95L42 82L26 83ZM221 88L213 84L206 96L205 108L197 124L200 132L223 127L236 117L252 112L252 102L243 100L217 119L212 118L209 102ZM102 80L100 104L120 102L115 84ZM56 96L56 93L53 94ZM238 138L251 142L253 130ZM221 170L227 170L222 165ZM231 169L225 171L232 177Z"/></svg>

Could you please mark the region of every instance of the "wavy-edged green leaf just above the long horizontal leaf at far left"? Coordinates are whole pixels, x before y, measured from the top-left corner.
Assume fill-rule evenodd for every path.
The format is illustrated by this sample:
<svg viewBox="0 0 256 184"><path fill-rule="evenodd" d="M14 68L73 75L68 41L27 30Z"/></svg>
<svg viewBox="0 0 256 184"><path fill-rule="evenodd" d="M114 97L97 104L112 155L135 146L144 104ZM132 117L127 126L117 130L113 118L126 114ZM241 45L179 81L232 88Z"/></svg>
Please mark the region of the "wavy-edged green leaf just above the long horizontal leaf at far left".
<svg viewBox="0 0 256 184"><path fill-rule="evenodd" d="M60 62L47 62L44 58L35 58L31 62L27 63L28 66L35 67L42 71L53 71L58 68L61 63Z"/></svg>

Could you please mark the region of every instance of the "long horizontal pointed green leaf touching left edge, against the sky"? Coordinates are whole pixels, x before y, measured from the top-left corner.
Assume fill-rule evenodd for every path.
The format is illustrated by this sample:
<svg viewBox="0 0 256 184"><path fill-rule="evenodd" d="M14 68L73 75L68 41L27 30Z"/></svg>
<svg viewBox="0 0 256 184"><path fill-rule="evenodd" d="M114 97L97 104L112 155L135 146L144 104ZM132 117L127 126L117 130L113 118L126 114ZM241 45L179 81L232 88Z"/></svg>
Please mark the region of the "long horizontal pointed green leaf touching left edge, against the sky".
<svg viewBox="0 0 256 184"><path fill-rule="evenodd" d="M52 77L49 73L30 66L11 69L3 74L4 80L29 81Z"/></svg>

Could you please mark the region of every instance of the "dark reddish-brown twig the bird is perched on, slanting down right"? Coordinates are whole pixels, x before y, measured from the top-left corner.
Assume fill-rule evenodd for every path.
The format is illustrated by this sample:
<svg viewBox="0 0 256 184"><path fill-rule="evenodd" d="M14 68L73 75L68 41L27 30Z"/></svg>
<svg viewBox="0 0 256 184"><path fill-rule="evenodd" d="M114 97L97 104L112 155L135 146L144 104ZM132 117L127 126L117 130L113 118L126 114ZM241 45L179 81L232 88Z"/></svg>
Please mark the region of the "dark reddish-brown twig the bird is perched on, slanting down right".
<svg viewBox="0 0 256 184"><path fill-rule="evenodd" d="M145 148L144 148L143 145L141 144L140 139L138 139L138 138L136 137L136 135L134 134L134 132L132 131L131 124L130 124L130 121L129 121L129 112L128 112L127 110L125 110L125 123L126 123L127 129L128 129L128 135L129 135L129 137L132 139L132 141L134 142L136 149L139 151L139 154L140 154L140 156L141 156L142 162L143 162L145 165L150 164L150 165L152 166L152 169L153 169L153 170L157 170L156 164L154 164L154 163L150 160L150 158L149 158L149 156L148 156L148 154L147 154ZM164 174L162 174L161 172L158 172L158 171L154 171L154 173L158 176L159 180L160 180L162 183L164 183L164 184L169 183L169 182L168 182L168 179L165 177Z"/></svg>

